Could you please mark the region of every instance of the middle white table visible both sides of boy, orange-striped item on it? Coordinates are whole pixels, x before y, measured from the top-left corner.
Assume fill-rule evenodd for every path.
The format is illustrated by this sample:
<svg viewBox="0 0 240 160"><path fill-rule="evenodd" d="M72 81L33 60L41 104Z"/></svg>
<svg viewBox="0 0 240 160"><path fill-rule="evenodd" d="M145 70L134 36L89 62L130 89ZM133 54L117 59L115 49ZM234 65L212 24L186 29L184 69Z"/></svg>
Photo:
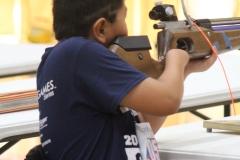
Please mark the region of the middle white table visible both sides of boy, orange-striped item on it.
<svg viewBox="0 0 240 160"><path fill-rule="evenodd" d="M240 100L239 51L221 55L236 101ZM0 93L36 89L36 79L0 83ZM180 110L187 111L215 104L230 103L226 81L219 63L203 73L194 73L185 81L185 92ZM0 142L12 136L38 133L38 110L0 114ZM27 135L26 137L28 137ZM15 137L17 138L17 137Z"/></svg>

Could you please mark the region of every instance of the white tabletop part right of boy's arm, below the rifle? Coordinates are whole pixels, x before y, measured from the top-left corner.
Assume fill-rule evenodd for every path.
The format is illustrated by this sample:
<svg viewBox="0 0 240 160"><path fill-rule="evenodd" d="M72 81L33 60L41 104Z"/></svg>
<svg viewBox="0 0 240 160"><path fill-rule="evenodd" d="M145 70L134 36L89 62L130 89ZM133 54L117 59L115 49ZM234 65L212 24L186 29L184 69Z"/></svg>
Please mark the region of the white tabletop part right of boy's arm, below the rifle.
<svg viewBox="0 0 240 160"><path fill-rule="evenodd" d="M219 56L225 68L234 99L240 99L240 51L235 50ZM220 62L207 71L193 73L185 80L182 110L193 106L223 104L230 102L230 92Z"/></svg>

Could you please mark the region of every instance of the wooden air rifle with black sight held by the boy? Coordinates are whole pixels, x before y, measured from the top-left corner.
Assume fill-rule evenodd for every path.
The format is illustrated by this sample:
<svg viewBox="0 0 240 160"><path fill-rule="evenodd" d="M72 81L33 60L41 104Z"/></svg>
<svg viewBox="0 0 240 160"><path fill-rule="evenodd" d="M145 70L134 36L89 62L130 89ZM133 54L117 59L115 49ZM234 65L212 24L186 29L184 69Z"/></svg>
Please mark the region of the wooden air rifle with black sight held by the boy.
<svg viewBox="0 0 240 160"><path fill-rule="evenodd" d="M109 49L120 58L150 77L158 78L164 70L164 60L170 49L188 52L190 59L204 58L212 54L212 49L202 33L193 26L197 24L218 53L240 49L240 17L219 19L193 19L182 8L186 20L178 20L174 5L155 3L149 12L152 20L160 20L154 29L161 29L157 35L158 60L152 59L151 45L147 36L117 37Z"/></svg>

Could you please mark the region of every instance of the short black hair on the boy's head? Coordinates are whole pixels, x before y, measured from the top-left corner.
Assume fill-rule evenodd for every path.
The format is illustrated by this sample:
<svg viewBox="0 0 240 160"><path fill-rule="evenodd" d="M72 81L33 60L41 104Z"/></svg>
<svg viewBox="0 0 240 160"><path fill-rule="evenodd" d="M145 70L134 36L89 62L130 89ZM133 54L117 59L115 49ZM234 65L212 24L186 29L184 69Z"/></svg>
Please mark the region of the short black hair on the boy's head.
<svg viewBox="0 0 240 160"><path fill-rule="evenodd" d="M87 37L99 18L114 23L122 5L123 0L53 0L55 38Z"/></svg>

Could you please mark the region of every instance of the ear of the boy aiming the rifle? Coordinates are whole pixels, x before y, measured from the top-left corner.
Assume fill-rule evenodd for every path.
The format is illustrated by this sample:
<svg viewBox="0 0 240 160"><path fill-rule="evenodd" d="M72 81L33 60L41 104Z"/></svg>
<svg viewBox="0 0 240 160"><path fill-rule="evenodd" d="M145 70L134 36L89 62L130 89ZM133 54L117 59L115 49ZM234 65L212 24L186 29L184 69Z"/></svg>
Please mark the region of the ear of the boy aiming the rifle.
<svg viewBox="0 0 240 160"><path fill-rule="evenodd" d="M106 32L107 32L108 22L105 18L99 18L93 24L93 37L100 44L106 43Z"/></svg>

